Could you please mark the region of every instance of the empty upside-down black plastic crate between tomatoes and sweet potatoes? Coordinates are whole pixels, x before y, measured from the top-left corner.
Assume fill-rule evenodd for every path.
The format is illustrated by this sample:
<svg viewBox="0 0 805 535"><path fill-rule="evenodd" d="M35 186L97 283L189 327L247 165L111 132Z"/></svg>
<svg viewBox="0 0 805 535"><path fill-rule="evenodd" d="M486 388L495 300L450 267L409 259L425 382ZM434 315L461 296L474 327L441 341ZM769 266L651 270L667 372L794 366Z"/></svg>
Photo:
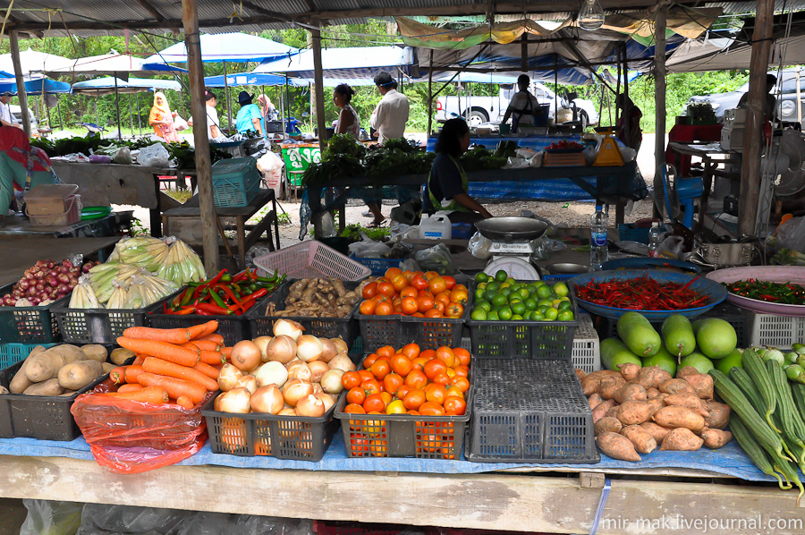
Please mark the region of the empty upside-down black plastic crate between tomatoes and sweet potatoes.
<svg viewBox="0 0 805 535"><path fill-rule="evenodd" d="M475 361L467 459L597 463L592 411L570 361Z"/></svg>

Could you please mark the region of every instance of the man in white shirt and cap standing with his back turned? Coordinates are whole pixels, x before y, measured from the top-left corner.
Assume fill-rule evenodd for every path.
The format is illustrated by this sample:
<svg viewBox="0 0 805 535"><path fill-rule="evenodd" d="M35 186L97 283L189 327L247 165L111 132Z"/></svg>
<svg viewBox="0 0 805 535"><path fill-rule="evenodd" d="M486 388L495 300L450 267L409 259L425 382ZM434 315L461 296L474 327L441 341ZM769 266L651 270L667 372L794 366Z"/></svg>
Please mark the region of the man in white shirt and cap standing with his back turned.
<svg viewBox="0 0 805 535"><path fill-rule="evenodd" d="M405 123L408 123L410 106L408 97L397 91L397 82L388 72L378 72L375 76L375 85L383 98L372 112L369 124L377 131L377 142L384 145L387 140L402 138ZM368 188L367 195L363 199L369 207L369 212L374 216L374 221L369 226L379 226L386 220L380 210L381 196L376 193L373 188Z"/></svg>

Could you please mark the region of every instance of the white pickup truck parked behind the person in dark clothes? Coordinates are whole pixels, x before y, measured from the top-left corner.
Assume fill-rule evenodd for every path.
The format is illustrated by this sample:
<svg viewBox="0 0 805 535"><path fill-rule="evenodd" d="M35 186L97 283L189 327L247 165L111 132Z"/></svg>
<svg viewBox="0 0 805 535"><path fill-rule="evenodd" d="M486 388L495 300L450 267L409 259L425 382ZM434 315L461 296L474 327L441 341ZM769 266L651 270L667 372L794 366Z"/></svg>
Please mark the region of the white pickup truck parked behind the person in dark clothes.
<svg viewBox="0 0 805 535"><path fill-rule="evenodd" d="M470 126L478 126L483 123L500 123L503 120L506 108L514 93L517 92L513 84L500 86L500 92L495 97L438 97L436 98L436 121L444 123L453 117L468 117ZM548 106L548 122L555 123L555 99L554 91L548 89L542 83L535 81L531 84L530 92L537 98L539 104ZM572 107L578 108L579 121L583 128L598 123L596 106L589 100L575 98L568 103L565 98L560 97L558 104L560 123L572 121Z"/></svg>

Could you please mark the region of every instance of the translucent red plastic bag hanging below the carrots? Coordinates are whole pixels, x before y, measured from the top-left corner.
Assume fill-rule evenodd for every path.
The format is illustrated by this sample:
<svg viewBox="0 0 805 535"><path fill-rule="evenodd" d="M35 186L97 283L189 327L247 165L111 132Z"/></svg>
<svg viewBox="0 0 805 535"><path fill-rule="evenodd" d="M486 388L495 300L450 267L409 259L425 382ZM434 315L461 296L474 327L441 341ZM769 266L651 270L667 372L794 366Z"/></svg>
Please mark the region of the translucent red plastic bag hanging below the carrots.
<svg viewBox="0 0 805 535"><path fill-rule="evenodd" d="M98 464L120 473L140 473L179 463L197 453L207 440L201 406L158 405L112 396L106 380L72 403L75 422Z"/></svg>

